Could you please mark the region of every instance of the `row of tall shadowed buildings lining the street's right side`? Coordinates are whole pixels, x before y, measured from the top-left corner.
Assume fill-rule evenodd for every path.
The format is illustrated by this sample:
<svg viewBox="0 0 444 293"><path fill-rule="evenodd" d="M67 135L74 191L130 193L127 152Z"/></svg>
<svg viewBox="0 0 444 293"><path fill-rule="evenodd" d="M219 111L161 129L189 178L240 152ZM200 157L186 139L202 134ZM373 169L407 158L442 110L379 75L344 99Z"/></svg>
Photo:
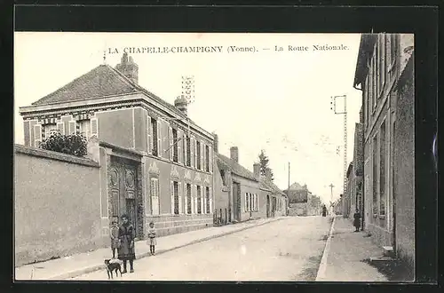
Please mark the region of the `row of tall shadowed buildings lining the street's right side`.
<svg viewBox="0 0 444 293"><path fill-rule="evenodd" d="M353 162L342 199L345 217L415 267L413 35L362 35L354 86L362 91Z"/></svg>

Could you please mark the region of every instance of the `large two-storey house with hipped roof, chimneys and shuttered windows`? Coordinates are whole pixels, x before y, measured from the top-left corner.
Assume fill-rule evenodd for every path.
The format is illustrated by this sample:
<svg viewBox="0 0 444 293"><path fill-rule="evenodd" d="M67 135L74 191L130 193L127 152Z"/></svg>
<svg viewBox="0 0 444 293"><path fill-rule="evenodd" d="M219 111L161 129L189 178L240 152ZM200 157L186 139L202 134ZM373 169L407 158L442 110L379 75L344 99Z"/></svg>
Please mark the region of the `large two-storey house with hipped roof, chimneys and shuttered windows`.
<svg viewBox="0 0 444 293"><path fill-rule="evenodd" d="M170 105L138 77L139 67L125 53L115 68L95 67L20 107L25 145L38 147L52 131L99 139L103 233L123 214L139 239L151 221L160 236L211 226L213 135L187 116L186 99Z"/></svg>

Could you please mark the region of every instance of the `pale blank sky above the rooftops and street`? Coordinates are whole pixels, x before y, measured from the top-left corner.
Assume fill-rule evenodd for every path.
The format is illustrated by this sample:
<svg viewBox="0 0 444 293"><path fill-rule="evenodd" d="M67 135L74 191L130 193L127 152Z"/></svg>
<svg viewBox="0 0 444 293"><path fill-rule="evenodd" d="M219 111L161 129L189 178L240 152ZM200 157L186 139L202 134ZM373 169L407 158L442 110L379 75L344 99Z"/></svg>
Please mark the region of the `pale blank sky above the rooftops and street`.
<svg viewBox="0 0 444 293"><path fill-rule="evenodd" d="M105 62L115 67L125 48L141 48L130 53L139 65L139 84L167 102L173 104L181 94L181 76L194 75L194 101L188 115L206 131L218 134L219 153L229 156L230 147L239 147L239 162L253 170L263 149L277 186L286 189L289 181L306 184L329 202L329 185L334 185L335 200L342 193L344 175L344 115L335 115L330 101L333 96L346 96L347 162L351 162L361 108L361 91L353 89L360 37L15 33L15 143L24 142L19 107L30 106L99 66L104 55ZM341 45L342 50L314 50L314 46ZM220 51L171 52L190 46ZM253 51L233 51L232 46ZM147 47L170 51L143 51ZM337 98L337 107L343 107L343 101Z"/></svg>

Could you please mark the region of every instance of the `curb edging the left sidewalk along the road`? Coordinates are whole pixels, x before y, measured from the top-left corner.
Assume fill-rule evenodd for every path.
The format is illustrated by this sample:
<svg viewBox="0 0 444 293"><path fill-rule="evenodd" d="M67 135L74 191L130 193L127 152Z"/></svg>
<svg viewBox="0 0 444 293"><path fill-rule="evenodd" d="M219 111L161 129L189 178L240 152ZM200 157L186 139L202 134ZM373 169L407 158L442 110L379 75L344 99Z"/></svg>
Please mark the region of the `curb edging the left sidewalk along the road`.
<svg viewBox="0 0 444 293"><path fill-rule="evenodd" d="M219 237L222 237L222 236L226 236L226 235L229 235L229 234L234 234L234 233L241 232L241 231L244 231L244 230L248 230L248 229L251 229L251 228L254 228L254 227L264 226L266 224L277 222L277 221L280 221L282 219L283 218L274 218L274 219L271 219L271 220L269 220L269 221L267 221L265 223L262 223L262 224L246 226L246 227L242 227L242 228L239 228L237 230L225 232L225 233L222 233L222 234L216 234L216 235L207 236L207 237L204 237L204 238L201 238L201 239L194 240L192 242L186 242L185 244L181 244L181 245L178 245L178 246L170 248L170 249L160 249L159 251L157 251L155 253L155 255L157 256L157 255L163 254L165 252L168 252L168 251L171 251L171 250L174 250L174 249L181 249L181 248L189 246L189 245L193 245L193 244L196 244L196 243L199 243L199 242L206 242L206 241L209 241L211 239L216 239L216 238L219 238ZM136 255L136 259L148 257L149 255L150 255L149 252L140 253L140 254ZM61 274L49 277L49 278L44 279L44 280L70 279L70 278L74 278L76 276L79 276L79 275L82 275L82 274L85 274L85 273L92 273L92 272L95 272L95 271L99 271L100 269L103 269L103 265L101 265L101 264L100 265L91 265L91 266L83 267L82 269L76 269L75 271L71 271L71 272L68 272L68 273L61 273Z"/></svg>

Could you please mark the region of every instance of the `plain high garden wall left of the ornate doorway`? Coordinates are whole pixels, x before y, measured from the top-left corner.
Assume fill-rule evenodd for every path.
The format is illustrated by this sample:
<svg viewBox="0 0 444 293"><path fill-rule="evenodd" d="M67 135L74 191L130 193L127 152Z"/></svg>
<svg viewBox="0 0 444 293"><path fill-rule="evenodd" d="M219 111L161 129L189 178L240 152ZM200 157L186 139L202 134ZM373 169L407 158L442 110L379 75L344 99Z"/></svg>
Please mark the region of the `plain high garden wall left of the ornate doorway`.
<svg viewBox="0 0 444 293"><path fill-rule="evenodd" d="M99 178L90 159L15 146L16 266L108 245Z"/></svg>

